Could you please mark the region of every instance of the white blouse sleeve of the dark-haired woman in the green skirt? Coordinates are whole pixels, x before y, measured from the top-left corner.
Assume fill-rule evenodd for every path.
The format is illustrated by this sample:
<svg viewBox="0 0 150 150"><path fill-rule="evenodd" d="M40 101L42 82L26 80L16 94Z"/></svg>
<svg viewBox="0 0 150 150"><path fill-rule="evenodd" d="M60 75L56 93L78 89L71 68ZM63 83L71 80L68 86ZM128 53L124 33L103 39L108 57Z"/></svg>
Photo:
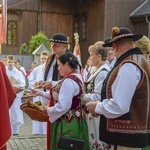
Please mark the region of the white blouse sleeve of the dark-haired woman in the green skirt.
<svg viewBox="0 0 150 150"><path fill-rule="evenodd" d="M82 76L80 74L74 75L82 81ZM72 79L66 78L63 81L59 91L58 103L47 108L50 122L55 122L71 108L72 98L79 94L79 91L79 85Z"/></svg>

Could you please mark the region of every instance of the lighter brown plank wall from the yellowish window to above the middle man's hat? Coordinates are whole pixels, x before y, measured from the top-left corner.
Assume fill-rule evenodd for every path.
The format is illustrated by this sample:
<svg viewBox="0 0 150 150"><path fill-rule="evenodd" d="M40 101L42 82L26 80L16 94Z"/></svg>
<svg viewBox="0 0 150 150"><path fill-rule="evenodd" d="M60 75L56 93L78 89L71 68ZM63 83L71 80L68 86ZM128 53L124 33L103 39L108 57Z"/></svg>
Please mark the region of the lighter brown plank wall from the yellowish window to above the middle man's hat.
<svg viewBox="0 0 150 150"><path fill-rule="evenodd" d="M23 43L29 45L31 36L44 32L48 38L54 33L61 32L73 40L73 16L70 6L61 0L22 0L8 7L8 21L18 22L18 45L2 45L2 54L18 54Z"/></svg>

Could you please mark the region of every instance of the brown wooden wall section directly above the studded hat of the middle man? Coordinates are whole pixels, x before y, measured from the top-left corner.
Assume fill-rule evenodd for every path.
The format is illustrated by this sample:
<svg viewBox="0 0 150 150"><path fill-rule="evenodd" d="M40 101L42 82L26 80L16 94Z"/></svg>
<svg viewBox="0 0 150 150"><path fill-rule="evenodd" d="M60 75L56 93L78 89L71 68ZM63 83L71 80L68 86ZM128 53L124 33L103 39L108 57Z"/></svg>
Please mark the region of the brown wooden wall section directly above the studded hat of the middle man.
<svg viewBox="0 0 150 150"><path fill-rule="evenodd" d="M53 34L61 32L73 37L73 13L70 0L43 0L41 6L41 30L50 38Z"/></svg>

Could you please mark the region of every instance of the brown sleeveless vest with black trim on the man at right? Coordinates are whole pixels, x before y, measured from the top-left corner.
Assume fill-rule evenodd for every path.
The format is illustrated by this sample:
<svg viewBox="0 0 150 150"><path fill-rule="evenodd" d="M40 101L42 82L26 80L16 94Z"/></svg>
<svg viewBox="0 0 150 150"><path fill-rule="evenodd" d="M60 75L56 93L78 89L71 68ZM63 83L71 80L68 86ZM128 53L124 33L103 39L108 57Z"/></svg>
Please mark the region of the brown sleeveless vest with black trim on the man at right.
<svg viewBox="0 0 150 150"><path fill-rule="evenodd" d="M142 78L132 98L130 111L121 117L108 119L101 115L100 140L127 147L150 145L150 64L139 48L122 55L108 74L102 88L102 99L112 98L111 86L124 63L139 67Z"/></svg>

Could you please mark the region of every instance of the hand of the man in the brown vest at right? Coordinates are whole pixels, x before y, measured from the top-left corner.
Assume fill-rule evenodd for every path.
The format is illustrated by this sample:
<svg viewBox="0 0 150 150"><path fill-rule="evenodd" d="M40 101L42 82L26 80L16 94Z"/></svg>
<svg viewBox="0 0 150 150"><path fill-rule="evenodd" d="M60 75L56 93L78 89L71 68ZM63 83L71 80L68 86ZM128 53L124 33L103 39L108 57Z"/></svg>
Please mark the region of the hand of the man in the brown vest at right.
<svg viewBox="0 0 150 150"><path fill-rule="evenodd" d="M88 102L86 104L86 109L88 112L90 112L94 117L97 116L97 114L95 113L95 108L96 108L96 105L99 101L96 101L96 102Z"/></svg>

